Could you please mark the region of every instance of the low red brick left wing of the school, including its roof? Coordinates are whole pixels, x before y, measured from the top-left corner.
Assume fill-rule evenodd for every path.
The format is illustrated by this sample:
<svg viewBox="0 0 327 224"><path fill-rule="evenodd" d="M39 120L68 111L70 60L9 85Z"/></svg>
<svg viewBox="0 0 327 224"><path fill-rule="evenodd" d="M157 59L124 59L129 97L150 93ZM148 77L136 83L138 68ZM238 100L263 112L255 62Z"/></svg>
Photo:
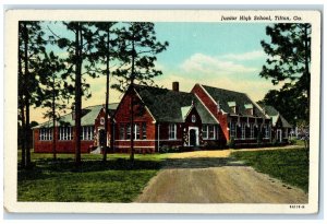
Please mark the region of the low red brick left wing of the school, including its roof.
<svg viewBox="0 0 327 224"><path fill-rule="evenodd" d="M112 116L118 104L109 106L109 115ZM105 109L102 105L89 106L82 111L82 141L81 152L89 153L93 149L100 145L101 139L106 138L105 130ZM109 117L110 118L110 117ZM109 119L111 120L111 119ZM68 114L60 117L56 125L56 152L74 153L75 141L73 139L75 131L74 114ZM34 152L51 153L52 152L52 121L44 122L33 128ZM109 123L109 130L110 130ZM111 130L110 130L111 132ZM110 134L108 134L110 139Z"/></svg>

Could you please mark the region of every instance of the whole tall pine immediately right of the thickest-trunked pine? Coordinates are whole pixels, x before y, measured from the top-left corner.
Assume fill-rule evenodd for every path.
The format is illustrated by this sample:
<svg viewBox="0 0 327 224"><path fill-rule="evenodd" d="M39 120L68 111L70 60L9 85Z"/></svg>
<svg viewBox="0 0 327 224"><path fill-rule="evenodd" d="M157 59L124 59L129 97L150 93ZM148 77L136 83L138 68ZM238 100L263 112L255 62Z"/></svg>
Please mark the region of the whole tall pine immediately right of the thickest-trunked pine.
<svg viewBox="0 0 327 224"><path fill-rule="evenodd" d="M108 145L108 135L109 135L109 91L110 91L110 62L117 59L117 22L96 22L96 57L99 60L100 64L105 64L104 69L100 69L100 73L106 75L106 106L105 106L105 151L102 152L102 161L107 161L107 145ZM112 118L110 117L110 123L112 125ZM111 127L112 130L112 127ZM110 138L110 149L113 148L112 135Z"/></svg>

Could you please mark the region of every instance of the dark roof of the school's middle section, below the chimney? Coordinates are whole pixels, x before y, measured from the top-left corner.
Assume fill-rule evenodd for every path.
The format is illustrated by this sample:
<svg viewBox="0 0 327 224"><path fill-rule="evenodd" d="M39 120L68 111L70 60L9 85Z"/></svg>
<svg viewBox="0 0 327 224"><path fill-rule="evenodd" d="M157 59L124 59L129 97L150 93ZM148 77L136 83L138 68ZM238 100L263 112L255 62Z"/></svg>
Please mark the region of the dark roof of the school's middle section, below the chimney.
<svg viewBox="0 0 327 224"><path fill-rule="evenodd" d="M159 122L183 122L183 109L192 102L203 123L217 123L193 93L175 92L145 85L135 85L135 91Z"/></svg>

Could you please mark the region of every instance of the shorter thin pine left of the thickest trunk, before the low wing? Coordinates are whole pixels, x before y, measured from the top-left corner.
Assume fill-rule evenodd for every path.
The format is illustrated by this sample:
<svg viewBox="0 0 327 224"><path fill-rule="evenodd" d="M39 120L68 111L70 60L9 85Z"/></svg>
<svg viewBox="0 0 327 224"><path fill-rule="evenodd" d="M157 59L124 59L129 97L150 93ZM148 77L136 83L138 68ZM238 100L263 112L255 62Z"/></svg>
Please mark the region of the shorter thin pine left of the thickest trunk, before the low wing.
<svg viewBox="0 0 327 224"><path fill-rule="evenodd" d="M41 107L46 108L45 118L52 120L52 154L53 160L57 158L57 121L60 118L60 111L64 111L69 99L71 98L72 85L61 79L59 72L63 72L65 66L63 60L50 51L44 54L44 60L39 64L39 89L38 97Z"/></svg>

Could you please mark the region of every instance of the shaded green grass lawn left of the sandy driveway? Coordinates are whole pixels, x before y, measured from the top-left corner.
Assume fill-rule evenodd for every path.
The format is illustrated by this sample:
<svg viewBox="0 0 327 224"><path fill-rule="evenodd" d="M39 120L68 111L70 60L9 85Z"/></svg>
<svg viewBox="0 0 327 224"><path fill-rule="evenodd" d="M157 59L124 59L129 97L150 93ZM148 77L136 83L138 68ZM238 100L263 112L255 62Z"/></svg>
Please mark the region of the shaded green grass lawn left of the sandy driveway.
<svg viewBox="0 0 327 224"><path fill-rule="evenodd" d="M131 202L157 174L168 154L135 155L134 165L128 154L82 154L82 166L74 168L73 154L32 153L34 167L19 169L19 201ZM20 152L19 152L20 158Z"/></svg>

